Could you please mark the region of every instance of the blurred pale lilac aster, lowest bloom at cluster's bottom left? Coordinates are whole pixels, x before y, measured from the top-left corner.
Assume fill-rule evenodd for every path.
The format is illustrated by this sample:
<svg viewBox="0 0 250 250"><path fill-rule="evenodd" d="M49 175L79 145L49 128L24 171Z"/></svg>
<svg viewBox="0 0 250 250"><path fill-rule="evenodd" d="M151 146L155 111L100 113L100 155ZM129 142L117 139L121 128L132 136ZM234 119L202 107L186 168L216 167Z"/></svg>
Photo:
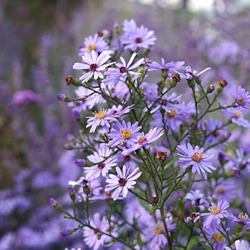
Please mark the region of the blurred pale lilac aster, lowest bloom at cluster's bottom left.
<svg viewBox="0 0 250 250"><path fill-rule="evenodd" d="M83 228L83 238L86 245L91 249L97 250L112 240L111 237L102 234L102 232L109 233L109 222L105 216L101 216L99 213L94 214L94 218L90 220L90 226L94 229Z"/></svg>

